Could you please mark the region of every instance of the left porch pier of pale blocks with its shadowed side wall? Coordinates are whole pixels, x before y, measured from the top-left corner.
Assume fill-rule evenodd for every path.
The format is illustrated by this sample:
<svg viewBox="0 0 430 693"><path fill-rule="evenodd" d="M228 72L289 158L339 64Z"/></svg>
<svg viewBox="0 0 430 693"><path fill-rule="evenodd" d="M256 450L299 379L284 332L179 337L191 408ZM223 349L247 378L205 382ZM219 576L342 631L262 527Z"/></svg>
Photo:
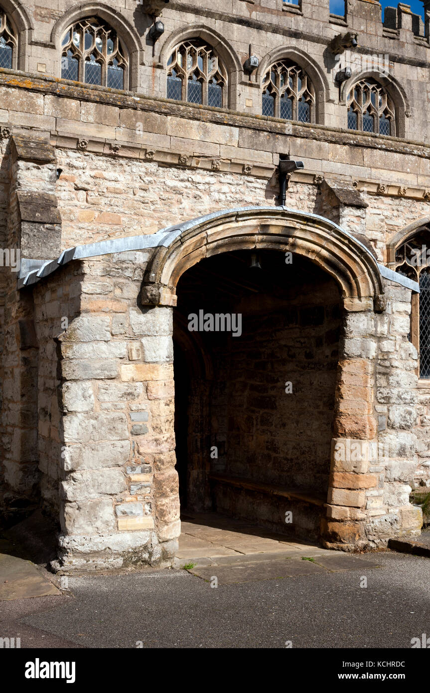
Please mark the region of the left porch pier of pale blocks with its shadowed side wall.
<svg viewBox="0 0 430 693"><path fill-rule="evenodd" d="M64 570L176 547L171 309L136 306L146 258L73 263L35 292L41 492Z"/></svg>

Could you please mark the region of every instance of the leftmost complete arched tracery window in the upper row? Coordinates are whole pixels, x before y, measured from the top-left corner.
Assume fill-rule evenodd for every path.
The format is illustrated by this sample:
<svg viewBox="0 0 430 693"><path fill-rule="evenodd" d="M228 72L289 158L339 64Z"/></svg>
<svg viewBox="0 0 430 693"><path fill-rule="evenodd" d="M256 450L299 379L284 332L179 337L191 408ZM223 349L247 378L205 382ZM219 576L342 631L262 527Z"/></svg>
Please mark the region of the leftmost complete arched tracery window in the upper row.
<svg viewBox="0 0 430 693"><path fill-rule="evenodd" d="M116 31L98 17L75 22L62 40L61 76L109 89L127 89L127 54Z"/></svg>

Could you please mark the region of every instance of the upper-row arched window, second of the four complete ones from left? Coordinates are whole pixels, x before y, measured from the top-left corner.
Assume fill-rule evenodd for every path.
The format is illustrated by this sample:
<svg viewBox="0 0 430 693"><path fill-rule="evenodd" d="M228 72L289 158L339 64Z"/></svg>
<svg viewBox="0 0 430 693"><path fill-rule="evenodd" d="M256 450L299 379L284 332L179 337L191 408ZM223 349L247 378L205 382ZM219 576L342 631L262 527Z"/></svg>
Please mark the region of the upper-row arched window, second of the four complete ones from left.
<svg viewBox="0 0 430 693"><path fill-rule="evenodd" d="M168 60L167 98L217 108L227 105L227 73L213 49L184 41Z"/></svg>

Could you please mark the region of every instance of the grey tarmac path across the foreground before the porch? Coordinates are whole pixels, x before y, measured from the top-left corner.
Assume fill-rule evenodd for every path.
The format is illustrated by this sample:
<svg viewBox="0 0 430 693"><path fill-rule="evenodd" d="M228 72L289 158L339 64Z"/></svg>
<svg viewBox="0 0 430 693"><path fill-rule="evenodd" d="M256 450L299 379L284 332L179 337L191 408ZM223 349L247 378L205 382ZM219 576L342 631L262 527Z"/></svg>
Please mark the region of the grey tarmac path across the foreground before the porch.
<svg viewBox="0 0 430 693"><path fill-rule="evenodd" d="M21 647L90 648L410 648L430 635L430 560L359 559L369 567L217 588L186 570L73 577L70 596L3 602L0 629Z"/></svg>

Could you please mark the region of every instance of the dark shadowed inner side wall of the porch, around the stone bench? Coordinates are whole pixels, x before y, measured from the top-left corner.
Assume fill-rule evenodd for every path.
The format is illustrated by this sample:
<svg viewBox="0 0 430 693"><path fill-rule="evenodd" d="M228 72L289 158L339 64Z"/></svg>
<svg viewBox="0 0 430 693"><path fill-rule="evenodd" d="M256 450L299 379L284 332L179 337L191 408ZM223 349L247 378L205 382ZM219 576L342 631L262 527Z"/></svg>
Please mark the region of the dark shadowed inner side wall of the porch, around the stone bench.
<svg viewBox="0 0 430 693"><path fill-rule="evenodd" d="M220 429L225 450L213 461L213 471L325 500L339 359L339 292L331 281L319 283L316 290L307 276L285 301L288 308L280 313L269 305L267 313L260 313L258 301L249 301L242 337L215 351L211 420ZM291 383L291 394L285 392L286 383ZM214 445L217 435L213 432ZM252 493L238 507L236 492L214 485L217 509L257 520L261 504ZM272 529L292 529L285 525L285 499L266 498L265 505L272 506ZM269 509L262 516L268 519ZM302 529L295 513L294 529Z"/></svg>

